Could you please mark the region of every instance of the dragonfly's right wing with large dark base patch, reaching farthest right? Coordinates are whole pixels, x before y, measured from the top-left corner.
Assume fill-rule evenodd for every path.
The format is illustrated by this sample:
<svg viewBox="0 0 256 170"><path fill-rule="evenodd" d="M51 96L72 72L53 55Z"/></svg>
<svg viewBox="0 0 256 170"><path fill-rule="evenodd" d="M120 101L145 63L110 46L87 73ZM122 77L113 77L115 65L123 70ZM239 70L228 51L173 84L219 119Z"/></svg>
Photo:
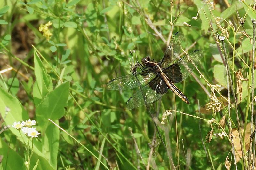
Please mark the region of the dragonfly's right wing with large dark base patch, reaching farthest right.
<svg viewBox="0 0 256 170"><path fill-rule="evenodd" d="M204 51L195 50L164 69L164 73L173 83L183 81L192 73L203 56Z"/></svg>

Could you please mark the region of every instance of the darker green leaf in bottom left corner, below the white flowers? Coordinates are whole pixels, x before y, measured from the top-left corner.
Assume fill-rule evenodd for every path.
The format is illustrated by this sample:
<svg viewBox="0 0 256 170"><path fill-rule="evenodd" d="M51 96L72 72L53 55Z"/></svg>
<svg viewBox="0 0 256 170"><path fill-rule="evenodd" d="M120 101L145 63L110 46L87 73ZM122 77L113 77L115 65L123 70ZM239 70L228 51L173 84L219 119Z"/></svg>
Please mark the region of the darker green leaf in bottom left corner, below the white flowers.
<svg viewBox="0 0 256 170"><path fill-rule="evenodd" d="M26 169L24 159L16 151L13 151L2 138L0 138L0 155L3 155L1 161L3 169Z"/></svg>

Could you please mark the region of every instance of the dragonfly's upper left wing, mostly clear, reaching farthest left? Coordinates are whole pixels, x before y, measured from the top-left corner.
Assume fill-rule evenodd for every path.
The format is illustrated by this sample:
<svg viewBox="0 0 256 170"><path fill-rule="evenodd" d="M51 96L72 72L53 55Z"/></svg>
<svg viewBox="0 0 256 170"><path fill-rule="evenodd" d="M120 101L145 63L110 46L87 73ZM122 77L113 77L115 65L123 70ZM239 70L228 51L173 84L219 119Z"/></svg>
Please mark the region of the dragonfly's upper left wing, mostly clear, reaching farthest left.
<svg viewBox="0 0 256 170"><path fill-rule="evenodd" d="M127 90L140 86L156 76L156 67L151 67L136 74L117 77L107 84L108 90Z"/></svg>

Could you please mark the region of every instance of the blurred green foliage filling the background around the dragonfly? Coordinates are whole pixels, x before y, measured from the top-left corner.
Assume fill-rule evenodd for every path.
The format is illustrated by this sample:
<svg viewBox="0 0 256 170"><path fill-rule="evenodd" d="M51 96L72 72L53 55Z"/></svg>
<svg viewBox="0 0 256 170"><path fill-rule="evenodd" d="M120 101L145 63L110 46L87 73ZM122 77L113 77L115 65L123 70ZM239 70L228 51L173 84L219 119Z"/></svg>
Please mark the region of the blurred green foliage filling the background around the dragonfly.
<svg viewBox="0 0 256 170"><path fill-rule="evenodd" d="M8 126L31 118L41 132L34 140L31 168L146 169L149 162L152 169L171 169L170 157L146 107L126 109L127 100L138 88L108 91L105 87L111 79L130 73L128 58L132 61L132 55L138 61L145 56L159 61L171 37L181 31L186 53L204 50L197 66L204 78L195 69L193 76L176 84L190 105L169 90L162 99L149 104L150 111L159 121L166 110L179 111L172 111L165 125L158 124L177 169L225 169L226 157L232 159L233 169L227 76L222 46L214 35L226 38L233 88L237 87L237 70L242 69L243 77L249 78L241 82L242 98L238 100L243 127L251 117L253 5L252 0L0 1L1 168L26 168L26 144L18 131ZM131 55L132 50L136 53ZM222 86L222 97L215 92L221 103L216 114L205 109L211 85L215 84ZM6 107L11 110L8 114ZM207 120L219 122L223 116L226 127L213 126L212 140L206 143L205 137L212 130ZM231 119L232 128L237 127L234 108ZM226 136L214 135L218 133ZM237 165L242 169L241 160Z"/></svg>

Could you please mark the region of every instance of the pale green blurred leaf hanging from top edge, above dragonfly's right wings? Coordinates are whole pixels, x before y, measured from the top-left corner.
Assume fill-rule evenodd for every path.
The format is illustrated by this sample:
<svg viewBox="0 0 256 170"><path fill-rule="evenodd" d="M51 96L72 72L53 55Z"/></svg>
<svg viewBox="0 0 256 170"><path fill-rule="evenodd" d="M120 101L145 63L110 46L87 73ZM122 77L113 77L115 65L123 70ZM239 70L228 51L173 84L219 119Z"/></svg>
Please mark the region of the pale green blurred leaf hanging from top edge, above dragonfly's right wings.
<svg viewBox="0 0 256 170"><path fill-rule="evenodd" d="M201 10L199 12L199 16L200 16L200 19L202 21L202 25L201 25L201 30L204 30L205 34L207 33L208 29L209 29L209 22L208 22L208 19L211 19L211 14L210 14L210 11L208 9L208 6L206 3L204 3L203 1L201 0L194 0L194 4L196 4L197 6L197 9L198 11ZM205 13L204 13L205 12ZM207 18L205 16L205 14L207 15Z"/></svg>

